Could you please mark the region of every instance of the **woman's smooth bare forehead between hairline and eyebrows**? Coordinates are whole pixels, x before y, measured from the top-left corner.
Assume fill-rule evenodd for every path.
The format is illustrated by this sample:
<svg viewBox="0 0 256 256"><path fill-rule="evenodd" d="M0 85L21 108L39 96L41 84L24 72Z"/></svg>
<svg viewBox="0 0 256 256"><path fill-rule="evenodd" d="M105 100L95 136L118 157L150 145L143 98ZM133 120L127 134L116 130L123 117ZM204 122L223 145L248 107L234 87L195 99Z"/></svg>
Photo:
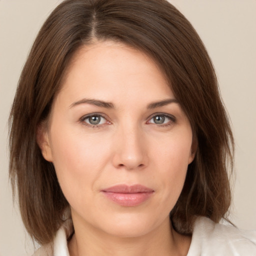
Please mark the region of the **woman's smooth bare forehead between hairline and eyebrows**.
<svg viewBox="0 0 256 256"><path fill-rule="evenodd" d="M60 94L106 101L173 97L164 75L148 55L113 41L83 45L72 56Z"/></svg>

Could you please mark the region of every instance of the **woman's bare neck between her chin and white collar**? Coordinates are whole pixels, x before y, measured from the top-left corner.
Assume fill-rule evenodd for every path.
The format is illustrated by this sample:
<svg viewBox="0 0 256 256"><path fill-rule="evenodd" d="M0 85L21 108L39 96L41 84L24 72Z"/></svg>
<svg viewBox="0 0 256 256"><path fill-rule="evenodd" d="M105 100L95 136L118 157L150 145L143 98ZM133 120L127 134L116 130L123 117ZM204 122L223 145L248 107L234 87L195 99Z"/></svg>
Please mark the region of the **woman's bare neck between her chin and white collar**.
<svg viewBox="0 0 256 256"><path fill-rule="evenodd" d="M157 228L136 237L105 233L88 224L76 225L68 243L70 256L153 256L186 255L191 238L176 233L167 218Z"/></svg>

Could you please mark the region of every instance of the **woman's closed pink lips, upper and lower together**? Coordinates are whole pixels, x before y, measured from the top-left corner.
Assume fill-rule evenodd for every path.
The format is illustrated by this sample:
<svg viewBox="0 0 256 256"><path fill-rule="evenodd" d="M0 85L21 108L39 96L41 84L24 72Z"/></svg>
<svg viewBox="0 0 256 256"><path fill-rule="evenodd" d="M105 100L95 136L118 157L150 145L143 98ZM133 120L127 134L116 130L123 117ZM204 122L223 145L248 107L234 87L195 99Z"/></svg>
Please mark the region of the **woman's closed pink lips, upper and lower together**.
<svg viewBox="0 0 256 256"><path fill-rule="evenodd" d="M119 184L102 189L101 192L121 206L136 206L146 201L154 190L140 184Z"/></svg>

